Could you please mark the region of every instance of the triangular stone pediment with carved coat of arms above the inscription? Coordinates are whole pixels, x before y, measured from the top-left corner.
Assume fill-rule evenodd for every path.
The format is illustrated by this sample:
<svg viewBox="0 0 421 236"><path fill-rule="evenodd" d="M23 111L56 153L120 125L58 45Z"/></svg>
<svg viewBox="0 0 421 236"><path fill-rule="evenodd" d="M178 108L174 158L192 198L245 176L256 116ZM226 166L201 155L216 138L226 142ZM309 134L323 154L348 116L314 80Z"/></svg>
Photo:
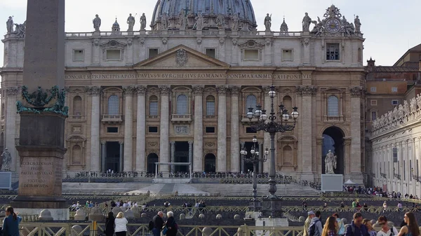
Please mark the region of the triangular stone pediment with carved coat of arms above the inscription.
<svg viewBox="0 0 421 236"><path fill-rule="evenodd" d="M135 64L134 69L228 69L230 66L184 45Z"/></svg>

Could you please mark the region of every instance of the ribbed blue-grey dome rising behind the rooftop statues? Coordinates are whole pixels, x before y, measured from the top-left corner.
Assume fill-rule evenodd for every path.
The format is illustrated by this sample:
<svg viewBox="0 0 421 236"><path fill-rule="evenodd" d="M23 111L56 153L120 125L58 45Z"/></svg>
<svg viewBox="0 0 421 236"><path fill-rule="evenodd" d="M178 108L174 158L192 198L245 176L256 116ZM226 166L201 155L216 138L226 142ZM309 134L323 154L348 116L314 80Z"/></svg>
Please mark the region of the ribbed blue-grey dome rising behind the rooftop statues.
<svg viewBox="0 0 421 236"><path fill-rule="evenodd" d="M196 29L198 15L203 16L203 30L232 29L234 15L239 20L234 30L253 31L257 27L250 0L158 0L151 28Z"/></svg>

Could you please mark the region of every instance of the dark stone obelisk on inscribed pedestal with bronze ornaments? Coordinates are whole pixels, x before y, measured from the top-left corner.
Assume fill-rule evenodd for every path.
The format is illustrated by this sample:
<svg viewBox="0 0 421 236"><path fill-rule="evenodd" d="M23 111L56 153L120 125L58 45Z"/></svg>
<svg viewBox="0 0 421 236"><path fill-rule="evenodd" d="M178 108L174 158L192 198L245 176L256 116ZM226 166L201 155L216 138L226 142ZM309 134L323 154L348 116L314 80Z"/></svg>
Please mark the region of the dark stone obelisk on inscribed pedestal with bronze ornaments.
<svg viewBox="0 0 421 236"><path fill-rule="evenodd" d="M21 214L51 211L69 219L62 197L62 159L66 152L65 0L28 0L23 64L18 196Z"/></svg>

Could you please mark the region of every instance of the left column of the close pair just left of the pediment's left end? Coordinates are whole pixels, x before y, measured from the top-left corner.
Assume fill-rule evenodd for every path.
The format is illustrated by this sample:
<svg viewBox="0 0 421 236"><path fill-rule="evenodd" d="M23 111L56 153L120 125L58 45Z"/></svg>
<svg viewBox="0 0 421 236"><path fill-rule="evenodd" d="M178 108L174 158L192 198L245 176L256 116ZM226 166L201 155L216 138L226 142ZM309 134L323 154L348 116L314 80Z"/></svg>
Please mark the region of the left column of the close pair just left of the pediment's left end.
<svg viewBox="0 0 421 236"><path fill-rule="evenodd" d="M124 162L123 171L133 172L133 86L123 87L124 95Z"/></svg>

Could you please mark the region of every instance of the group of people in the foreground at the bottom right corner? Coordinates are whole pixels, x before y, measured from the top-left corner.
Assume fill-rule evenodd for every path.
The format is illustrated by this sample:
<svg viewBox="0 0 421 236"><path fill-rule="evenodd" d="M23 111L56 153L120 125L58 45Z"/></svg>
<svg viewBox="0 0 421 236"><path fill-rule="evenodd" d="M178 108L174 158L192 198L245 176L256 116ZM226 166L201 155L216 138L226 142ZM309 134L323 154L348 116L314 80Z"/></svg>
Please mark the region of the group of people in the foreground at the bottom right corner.
<svg viewBox="0 0 421 236"><path fill-rule="evenodd" d="M390 227L386 216L377 219L381 229L376 231L370 220L363 218L361 212L356 212L353 221L347 227L339 218L338 213L322 221L321 212L309 211L305 221L302 236L420 236L417 220L412 212L406 212L401 223L401 230Z"/></svg>

